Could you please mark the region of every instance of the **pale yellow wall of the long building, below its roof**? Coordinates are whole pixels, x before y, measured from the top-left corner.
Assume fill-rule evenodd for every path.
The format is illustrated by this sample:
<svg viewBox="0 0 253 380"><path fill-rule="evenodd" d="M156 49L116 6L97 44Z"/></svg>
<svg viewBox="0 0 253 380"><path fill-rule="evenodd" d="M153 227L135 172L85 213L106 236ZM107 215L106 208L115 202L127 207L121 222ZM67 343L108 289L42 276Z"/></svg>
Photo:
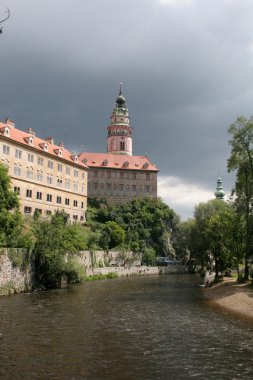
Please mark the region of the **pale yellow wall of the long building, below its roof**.
<svg viewBox="0 0 253 380"><path fill-rule="evenodd" d="M9 154L4 153L4 145L9 146ZM15 157L16 149L22 151L21 157ZM34 157L33 162L28 161L28 154ZM38 163L38 158L43 159L42 165ZM0 136L0 161L9 167L9 175L14 187L20 188L21 212L24 213L25 207L31 207L30 215L33 215L36 208L42 210L46 215L48 211L64 209L70 219L77 218L78 221L85 220L87 209L87 169L61 159L45 152L32 149L30 146L21 145L12 140ZM53 168L48 167L48 161L53 162ZM58 170L58 164L62 165L62 172ZM66 173L66 167L70 168L70 174ZM15 169L17 168L17 169ZM15 172L16 170L16 172ZM20 175L18 175L21 170ZM78 176L74 176L74 170L78 171ZM33 178L28 178L27 172L33 173ZM38 177L42 175L43 178ZM47 177L52 177L52 184L48 184ZM62 181L57 182L57 180ZM66 188L66 181L70 188ZM78 189L75 188L78 186ZM27 190L32 190L32 197L26 195ZM42 193L42 199L36 199L37 192ZM52 195L52 202L47 201L47 194ZM56 202L57 196L62 198L62 203ZM69 199L69 205L65 204L65 198ZM74 206L77 201L77 206Z"/></svg>

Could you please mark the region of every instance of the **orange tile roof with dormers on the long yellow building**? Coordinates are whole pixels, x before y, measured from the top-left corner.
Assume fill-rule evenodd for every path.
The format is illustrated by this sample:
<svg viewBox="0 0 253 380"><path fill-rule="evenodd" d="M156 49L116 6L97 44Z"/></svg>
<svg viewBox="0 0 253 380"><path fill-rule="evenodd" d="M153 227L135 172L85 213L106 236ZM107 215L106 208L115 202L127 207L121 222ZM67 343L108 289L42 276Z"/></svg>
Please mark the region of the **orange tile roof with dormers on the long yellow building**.
<svg viewBox="0 0 253 380"><path fill-rule="evenodd" d="M10 125L8 122L3 123L0 122L0 136L4 135L4 131L6 127L9 128L10 134L9 136L6 136L7 139L10 139L12 141L15 141L17 143L20 143L22 145L25 145L26 147L31 147L33 149L36 149L40 152L43 152L45 154L48 154L50 156L54 156L66 161L69 161L71 164L82 166L83 168L87 168L87 165L84 164L77 155L74 155L73 153L69 152L67 149L63 147L63 144L60 145L51 144L49 140L41 139L39 137L36 137L34 132L29 128L30 133L21 131L20 129L15 128L13 125ZM33 138L33 143L29 144L28 139L29 137ZM48 149L44 150L43 146L47 143ZM59 155L59 150L61 150L61 156ZM75 157L77 157L77 161L75 160Z"/></svg>

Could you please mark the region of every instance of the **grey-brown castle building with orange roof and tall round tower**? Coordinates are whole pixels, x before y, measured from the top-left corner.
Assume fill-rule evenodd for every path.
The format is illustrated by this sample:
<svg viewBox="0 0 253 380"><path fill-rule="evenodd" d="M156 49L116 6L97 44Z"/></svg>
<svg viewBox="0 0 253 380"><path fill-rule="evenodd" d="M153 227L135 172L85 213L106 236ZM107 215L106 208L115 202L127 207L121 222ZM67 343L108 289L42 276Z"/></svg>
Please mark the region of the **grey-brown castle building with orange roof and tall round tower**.
<svg viewBox="0 0 253 380"><path fill-rule="evenodd" d="M117 204L146 196L157 197L158 168L148 156L132 155L132 132L126 100L120 86L107 127L107 153L83 152L87 165L88 197Z"/></svg>

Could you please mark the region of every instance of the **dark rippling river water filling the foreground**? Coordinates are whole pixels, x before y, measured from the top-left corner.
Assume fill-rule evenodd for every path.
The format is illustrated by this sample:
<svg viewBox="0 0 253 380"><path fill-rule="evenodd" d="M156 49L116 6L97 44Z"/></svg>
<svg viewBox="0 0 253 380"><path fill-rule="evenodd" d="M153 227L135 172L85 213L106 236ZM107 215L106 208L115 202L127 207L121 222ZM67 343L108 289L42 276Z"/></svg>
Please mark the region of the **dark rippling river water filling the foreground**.
<svg viewBox="0 0 253 380"><path fill-rule="evenodd" d="M195 276L87 282L0 298L0 379L253 379L253 325Z"/></svg>

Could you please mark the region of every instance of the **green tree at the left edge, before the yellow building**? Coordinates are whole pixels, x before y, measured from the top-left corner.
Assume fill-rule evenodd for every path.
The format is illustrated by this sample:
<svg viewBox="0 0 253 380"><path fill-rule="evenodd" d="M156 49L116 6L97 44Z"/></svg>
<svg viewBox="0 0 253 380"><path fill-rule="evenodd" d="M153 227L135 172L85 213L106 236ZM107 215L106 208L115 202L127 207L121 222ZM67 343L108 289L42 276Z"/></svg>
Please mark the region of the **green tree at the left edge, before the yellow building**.
<svg viewBox="0 0 253 380"><path fill-rule="evenodd" d="M11 190L8 169L0 164L0 245L18 247L22 227L17 194Z"/></svg>

